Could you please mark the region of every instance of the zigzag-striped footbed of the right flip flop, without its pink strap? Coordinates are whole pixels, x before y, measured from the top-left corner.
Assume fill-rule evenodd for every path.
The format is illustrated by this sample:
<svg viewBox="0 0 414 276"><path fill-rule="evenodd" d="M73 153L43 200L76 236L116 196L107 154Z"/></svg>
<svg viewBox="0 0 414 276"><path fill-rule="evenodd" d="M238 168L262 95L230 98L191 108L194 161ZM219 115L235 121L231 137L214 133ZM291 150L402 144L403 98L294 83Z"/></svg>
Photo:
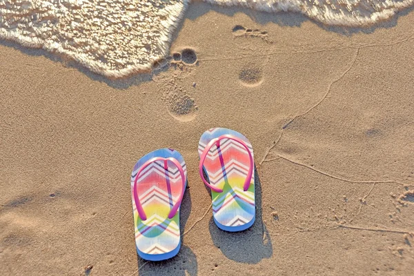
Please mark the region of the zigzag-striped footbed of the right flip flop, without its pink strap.
<svg viewBox="0 0 414 276"><path fill-rule="evenodd" d="M201 136L198 152L201 156L206 145L221 135L228 134L242 139L253 156L250 141L239 132L225 128L207 130ZM250 159L246 148L237 141L222 139L217 146L208 151L204 170L210 184L222 188L222 193L211 192L213 197L213 215L224 226L242 226L255 216L255 178L252 175L250 188L243 190L248 175Z"/></svg>

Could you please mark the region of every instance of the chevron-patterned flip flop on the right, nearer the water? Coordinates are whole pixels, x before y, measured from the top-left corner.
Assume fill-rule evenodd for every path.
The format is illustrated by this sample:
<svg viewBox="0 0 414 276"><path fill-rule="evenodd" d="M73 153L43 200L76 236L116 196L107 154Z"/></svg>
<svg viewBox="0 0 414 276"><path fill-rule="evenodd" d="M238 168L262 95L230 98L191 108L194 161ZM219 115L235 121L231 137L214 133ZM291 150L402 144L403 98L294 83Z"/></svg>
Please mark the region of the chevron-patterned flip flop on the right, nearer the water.
<svg viewBox="0 0 414 276"><path fill-rule="evenodd" d="M227 128L211 128L199 141L199 174L211 189L215 224L230 232L255 222L255 162L244 135ZM208 180L204 179L203 171Z"/></svg>

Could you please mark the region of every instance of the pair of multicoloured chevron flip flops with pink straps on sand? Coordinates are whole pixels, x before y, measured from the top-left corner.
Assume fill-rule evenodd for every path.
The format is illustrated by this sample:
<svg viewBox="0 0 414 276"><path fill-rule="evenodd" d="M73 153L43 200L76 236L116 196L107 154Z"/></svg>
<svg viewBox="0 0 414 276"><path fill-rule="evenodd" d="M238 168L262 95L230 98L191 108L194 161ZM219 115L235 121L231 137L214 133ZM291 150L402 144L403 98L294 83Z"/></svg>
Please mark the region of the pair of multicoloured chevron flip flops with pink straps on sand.
<svg viewBox="0 0 414 276"><path fill-rule="evenodd" d="M234 130L212 128L201 135L198 152L199 174L211 190L215 224L230 232L252 226L255 164L250 141ZM132 208L135 243L143 259L161 261L177 255L181 246L179 207L186 185L186 162L177 150L161 148L135 164Z"/></svg>

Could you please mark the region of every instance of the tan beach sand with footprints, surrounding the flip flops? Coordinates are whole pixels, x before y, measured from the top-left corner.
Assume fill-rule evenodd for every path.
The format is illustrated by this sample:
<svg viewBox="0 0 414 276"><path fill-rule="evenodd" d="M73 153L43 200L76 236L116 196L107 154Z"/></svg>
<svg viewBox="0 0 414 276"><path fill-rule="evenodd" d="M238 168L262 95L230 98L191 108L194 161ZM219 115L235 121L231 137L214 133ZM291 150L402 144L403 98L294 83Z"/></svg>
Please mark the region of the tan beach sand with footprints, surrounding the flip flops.
<svg viewBox="0 0 414 276"><path fill-rule="evenodd" d="M325 28L193 3L177 60L117 81L2 41L0 275L412 275L413 23L408 10ZM243 233L215 226L198 175L199 137L217 126L255 151ZM179 255L151 263L129 179L161 147L184 156L189 188Z"/></svg>

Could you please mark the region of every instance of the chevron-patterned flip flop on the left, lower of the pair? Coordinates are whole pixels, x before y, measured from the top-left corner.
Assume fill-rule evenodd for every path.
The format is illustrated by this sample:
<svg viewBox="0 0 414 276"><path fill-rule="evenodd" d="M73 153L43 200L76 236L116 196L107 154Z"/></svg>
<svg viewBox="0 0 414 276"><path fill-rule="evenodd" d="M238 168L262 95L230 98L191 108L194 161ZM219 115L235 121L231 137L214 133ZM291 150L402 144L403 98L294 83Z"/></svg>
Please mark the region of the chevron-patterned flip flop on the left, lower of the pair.
<svg viewBox="0 0 414 276"><path fill-rule="evenodd" d="M135 164L131 193L135 244L141 258L161 261L177 255L181 246L179 206L186 181L186 163L176 150L155 150Z"/></svg>

